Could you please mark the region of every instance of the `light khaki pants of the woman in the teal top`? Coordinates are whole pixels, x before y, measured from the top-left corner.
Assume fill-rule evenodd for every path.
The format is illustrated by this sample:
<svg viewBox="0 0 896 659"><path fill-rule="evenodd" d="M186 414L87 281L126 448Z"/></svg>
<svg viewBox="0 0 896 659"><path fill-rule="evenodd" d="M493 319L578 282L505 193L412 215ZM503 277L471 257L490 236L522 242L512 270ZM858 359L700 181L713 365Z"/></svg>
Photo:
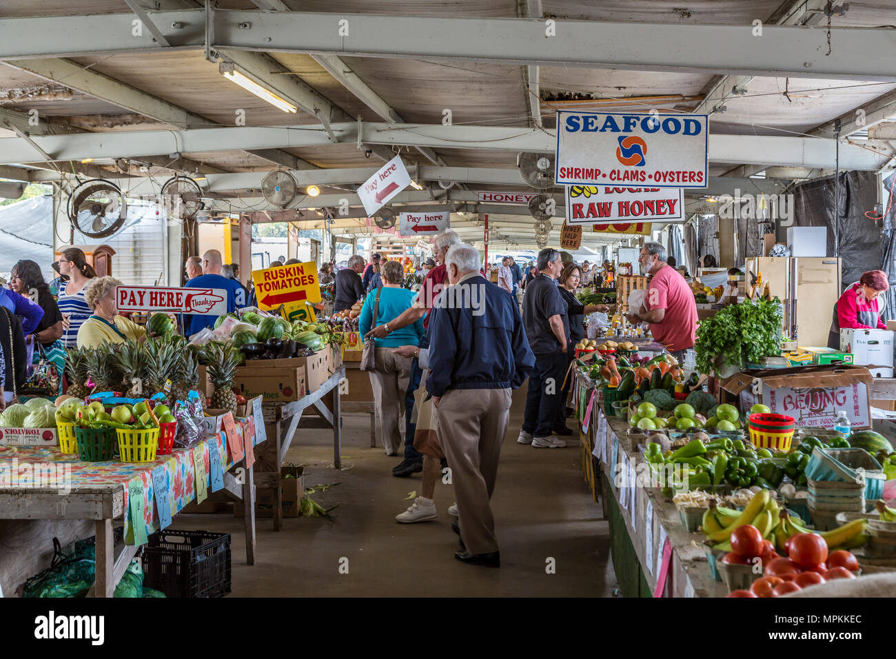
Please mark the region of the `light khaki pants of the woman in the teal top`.
<svg viewBox="0 0 896 659"><path fill-rule="evenodd" d="M404 394L410 380L410 358L392 352L392 348L376 348L376 369L370 371L370 387L374 390L376 433L385 452L396 455L404 448Z"/></svg>

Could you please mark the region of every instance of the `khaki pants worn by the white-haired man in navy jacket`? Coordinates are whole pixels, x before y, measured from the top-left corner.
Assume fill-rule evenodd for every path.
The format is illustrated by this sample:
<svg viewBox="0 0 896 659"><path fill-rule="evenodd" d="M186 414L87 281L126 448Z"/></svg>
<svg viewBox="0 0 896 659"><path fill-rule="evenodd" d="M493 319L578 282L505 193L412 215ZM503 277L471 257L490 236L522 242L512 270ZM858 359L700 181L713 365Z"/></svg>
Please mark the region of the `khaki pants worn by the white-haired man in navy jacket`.
<svg viewBox="0 0 896 659"><path fill-rule="evenodd" d="M510 403L510 389L449 389L436 408L461 539L472 554L498 551L489 499L495 490Z"/></svg>

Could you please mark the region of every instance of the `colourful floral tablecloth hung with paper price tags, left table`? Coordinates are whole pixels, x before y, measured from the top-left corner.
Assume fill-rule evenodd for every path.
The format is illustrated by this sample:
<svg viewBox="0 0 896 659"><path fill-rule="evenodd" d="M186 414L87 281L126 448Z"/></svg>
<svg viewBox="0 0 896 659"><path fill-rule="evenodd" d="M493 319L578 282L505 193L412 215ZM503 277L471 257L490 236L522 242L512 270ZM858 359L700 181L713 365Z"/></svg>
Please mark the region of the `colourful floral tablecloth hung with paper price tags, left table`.
<svg viewBox="0 0 896 659"><path fill-rule="evenodd" d="M234 424L240 438L238 446L245 447L246 438L251 438L254 446L254 422L251 418L237 419ZM109 485L119 483L125 490L125 542L134 544L134 524L132 522L129 490L137 481L142 482L143 520L146 533L153 533L160 528L159 512L156 510L156 498L153 491L152 473L159 465L164 466L168 480L168 504L170 514L174 516L188 503L196 498L194 451L202 450L205 465L206 489L211 492L211 454L218 451L223 471L242 460L237 455L235 461L228 447L227 437L223 430L217 436L210 436L191 448L175 448L170 455L158 455L151 463L123 463L118 460L108 462L85 462L78 455L60 453L59 447L5 447L0 446L0 471L16 473L17 485L27 491L30 479L34 475L36 464L65 464L71 470L71 489L78 486ZM16 471L18 470L18 471ZM67 478L67 476L66 476ZM0 514L2 517L2 514Z"/></svg>

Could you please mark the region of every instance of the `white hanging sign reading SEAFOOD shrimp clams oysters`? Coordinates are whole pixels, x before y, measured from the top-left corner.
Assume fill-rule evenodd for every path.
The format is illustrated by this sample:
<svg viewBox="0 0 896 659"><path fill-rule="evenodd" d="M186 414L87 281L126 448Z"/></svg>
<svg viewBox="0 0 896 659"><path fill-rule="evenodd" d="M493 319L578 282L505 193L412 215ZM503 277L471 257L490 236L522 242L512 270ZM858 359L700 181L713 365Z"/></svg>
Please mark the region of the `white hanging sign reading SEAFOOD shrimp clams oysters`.
<svg viewBox="0 0 896 659"><path fill-rule="evenodd" d="M708 186L707 115L558 112L556 182Z"/></svg>

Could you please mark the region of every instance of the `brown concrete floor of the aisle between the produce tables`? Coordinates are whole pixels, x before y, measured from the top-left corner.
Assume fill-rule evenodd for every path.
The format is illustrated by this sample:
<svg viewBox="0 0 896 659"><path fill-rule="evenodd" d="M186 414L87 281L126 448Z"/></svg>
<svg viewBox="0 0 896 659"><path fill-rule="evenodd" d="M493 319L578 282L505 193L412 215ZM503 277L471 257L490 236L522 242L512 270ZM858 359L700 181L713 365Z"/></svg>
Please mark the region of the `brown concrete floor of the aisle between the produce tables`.
<svg viewBox="0 0 896 659"><path fill-rule="evenodd" d="M392 477L401 460L371 448L369 417L346 417L343 471L333 471L332 432L300 430L287 457L306 464L305 486L339 482L312 498L334 522L298 517L274 533L259 519L255 565L246 566L241 519L228 514L178 515L173 526L232 533L232 595L312 596L612 596L616 578L609 559L607 522L579 472L577 438L563 449L516 443L525 387L514 392L492 507L501 543L500 569L463 565L448 507L452 486L435 489L436 520L412 525L394 516L420 487L420 476ZM572 421L570 421L572 424ZM573 444L575 446L573 446ZM546 573L547 559L556 572ZM348 574L340 562L348 559Z"/></svg>

